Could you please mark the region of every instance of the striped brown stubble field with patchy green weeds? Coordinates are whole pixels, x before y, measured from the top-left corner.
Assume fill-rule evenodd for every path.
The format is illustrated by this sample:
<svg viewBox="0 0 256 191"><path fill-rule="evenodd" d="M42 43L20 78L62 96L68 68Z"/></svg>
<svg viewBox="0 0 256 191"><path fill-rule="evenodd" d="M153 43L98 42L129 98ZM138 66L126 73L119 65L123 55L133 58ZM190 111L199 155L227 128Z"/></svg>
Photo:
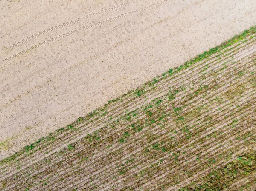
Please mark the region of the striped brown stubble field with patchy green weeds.
<svg viewBox="0 0 256 191"><path fill-rule="evenodd" d="M256 26L0 161L2 190L256 190Z"/></svg>

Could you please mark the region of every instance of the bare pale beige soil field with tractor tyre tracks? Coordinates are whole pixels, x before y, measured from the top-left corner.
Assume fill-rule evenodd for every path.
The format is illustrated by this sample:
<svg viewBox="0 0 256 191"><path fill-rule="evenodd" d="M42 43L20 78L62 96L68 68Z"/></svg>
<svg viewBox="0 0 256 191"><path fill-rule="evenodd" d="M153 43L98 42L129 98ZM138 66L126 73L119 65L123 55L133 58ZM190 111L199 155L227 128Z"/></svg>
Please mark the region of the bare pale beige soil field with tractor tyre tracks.
<svg viewBox="0 0 256 191"><path fill-rule="evenodd" d="M1 1L0 158L255 20L255 0Z"/></svg>

